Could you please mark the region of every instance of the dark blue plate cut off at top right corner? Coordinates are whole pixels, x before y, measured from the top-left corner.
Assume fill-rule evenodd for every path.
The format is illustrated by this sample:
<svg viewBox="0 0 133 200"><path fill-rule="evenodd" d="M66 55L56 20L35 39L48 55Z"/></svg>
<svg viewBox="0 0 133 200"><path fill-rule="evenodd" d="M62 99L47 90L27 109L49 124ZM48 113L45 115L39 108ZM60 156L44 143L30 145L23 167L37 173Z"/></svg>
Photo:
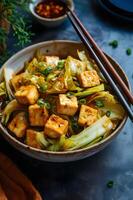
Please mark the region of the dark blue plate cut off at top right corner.
<svg viewBox="0 0 133 200"><path fill-rule="evenodd" d="M98 0L99 3L111 14L133 20L133 0Z"/></svg>

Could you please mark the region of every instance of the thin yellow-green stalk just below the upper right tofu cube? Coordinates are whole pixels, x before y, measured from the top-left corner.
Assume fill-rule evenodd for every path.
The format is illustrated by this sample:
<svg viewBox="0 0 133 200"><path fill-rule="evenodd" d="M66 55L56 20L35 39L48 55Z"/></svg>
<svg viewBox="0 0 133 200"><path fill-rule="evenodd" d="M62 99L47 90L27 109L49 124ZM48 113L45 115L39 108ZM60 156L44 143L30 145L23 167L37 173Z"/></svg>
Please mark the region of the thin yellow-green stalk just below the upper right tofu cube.
<svg viewBox="0 0 133 200"><path fill-rule="evenodd" d="M103 91L103 90L104 90L104 84L102 83L98 86L86 89L83 92L77 92L77 93L74 94L74 96L84 97L84 96L88 96L88 95L91 95L91 94L94 94L96 92L100 92L100 91Z"/></svg>

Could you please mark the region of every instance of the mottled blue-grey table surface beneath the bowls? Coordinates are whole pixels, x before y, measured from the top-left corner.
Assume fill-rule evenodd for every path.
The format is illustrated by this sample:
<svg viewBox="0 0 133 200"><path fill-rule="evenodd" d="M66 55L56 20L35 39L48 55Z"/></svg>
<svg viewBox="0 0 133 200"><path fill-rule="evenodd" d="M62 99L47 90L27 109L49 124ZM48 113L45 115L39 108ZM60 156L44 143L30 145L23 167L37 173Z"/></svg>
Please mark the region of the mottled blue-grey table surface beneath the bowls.
<svg viewBox="0 0 133 200"><path fill-rule="evenodd" d="M101 11L94 0L75 0L75 9L81 21L102 49L113 56L125 70L133 85L133 50L131 24L116 20ZM53 39L79 40L67 21L56 29L46 29L33 22L33 43ZM118 40L118 48L108 43ZM13 40L9 40L13 54ZM9 155L33 181L44 200L132 200L133 199L133 125L126 123L120 135L103 151L81 161L71 163L46 163L31 160L14 150L4 139L0 149ZM107 188L109 180L113 188Z"/></svg>

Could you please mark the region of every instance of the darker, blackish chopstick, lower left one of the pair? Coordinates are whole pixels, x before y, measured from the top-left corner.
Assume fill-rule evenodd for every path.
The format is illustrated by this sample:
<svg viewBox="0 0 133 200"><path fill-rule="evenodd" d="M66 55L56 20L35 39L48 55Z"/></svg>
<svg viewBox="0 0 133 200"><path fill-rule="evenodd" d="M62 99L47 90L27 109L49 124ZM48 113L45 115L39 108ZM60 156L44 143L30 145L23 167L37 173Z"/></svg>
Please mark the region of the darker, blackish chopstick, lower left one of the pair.
<svg viewBox="0 0 133 200"><path fill-rule="evenodd" d="M96 61L97 65L99 66L102 74L104 75L104 77L107 79L107 81L110 83L112 89L114 90L114 92L116 93L119 101L121 102L121 104L123 105L123 107L125 108L125 110L127 111L128 113L128 116L130 117L130 119L133 121L133 112L129 106L129 103L126 98L124 97L124 95L121 93L120 89L118 88L116 82L114 82L114 80L112 79L112 77L109 75L108 71L105 69L104 65L102 64L100 58L97 56L96 52L94 51L95 49L95 46L93 45L93 39L91 37L91 40L90 40L90 37L87 37L89 33L87 33L87 31L85 30L82 30L83 28L83 25L81 26L81 22L80 20L78 19L78 17L76 16L76 14L71 11L69 8L68 8L68 11L66 12L67 13L67 16L69 18L69 20L71 21L73 27L75 28L76 32L78 33L79 37L81 38L82 42L84 43L84 45L86 46L87 50L89 50L89 52L91 53L92 57L94 58L94 60ZM78 19L78 20L77 20ZM79 23L80 22L80 23ZM87 34L85 34L85 31ZM89 34L90 35L90 34ZM91 43L91 45L90 45ZM95 43L95 45L97 46L97 44ZM99 48L100 49L100 48ZM97 52L98 52L98 49L96 49ZM101 51L101 50L100 50ZM102 57L103 58L103 57ZM106 59L107 60L107 59ZM104 60L104 62L106 61ZM109 62L109 61L108 61ZM110 63L111 65L111 63ZM112 67L113 68L113 67ZM123 88L122 88L123 89ZM128 91L128 89L127 89ZM125 91L124 91L125 92ZM128 92L130 93L130 92ZM130 95L131 96L131 95ZM131 96L132 97L132 96ZM132 98L130 98L131 100Z"/></svg>

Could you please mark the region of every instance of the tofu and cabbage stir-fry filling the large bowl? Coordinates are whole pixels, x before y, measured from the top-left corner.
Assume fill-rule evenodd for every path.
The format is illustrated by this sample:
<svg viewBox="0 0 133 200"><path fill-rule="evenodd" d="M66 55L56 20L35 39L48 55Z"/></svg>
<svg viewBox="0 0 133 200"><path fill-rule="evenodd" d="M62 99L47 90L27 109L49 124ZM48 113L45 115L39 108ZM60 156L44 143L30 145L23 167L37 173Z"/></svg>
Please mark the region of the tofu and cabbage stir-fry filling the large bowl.
<svg viewBox="0 0 133 200"><path fill-rule="evenodd" d="M0 84L1 123L21 142L48 151L70 151L108 137L124 109L92 59L36 52L20 73Z"/></svg>

